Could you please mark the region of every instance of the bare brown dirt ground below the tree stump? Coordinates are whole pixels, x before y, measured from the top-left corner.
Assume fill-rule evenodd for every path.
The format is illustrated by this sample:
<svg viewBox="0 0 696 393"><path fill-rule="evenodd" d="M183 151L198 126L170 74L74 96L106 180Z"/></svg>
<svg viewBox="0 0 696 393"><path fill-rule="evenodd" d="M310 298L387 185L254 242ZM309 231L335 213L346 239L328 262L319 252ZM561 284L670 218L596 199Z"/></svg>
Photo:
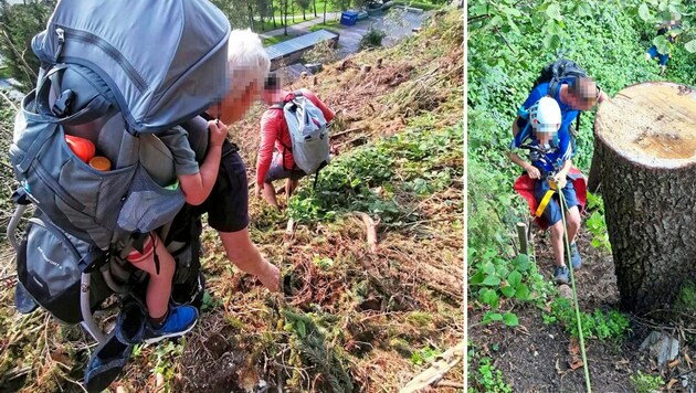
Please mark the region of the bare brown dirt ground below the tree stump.
<svg viewBox="0 0 696 393"><path fill-rule="evenodd" d="M581 230L582 231L582 230ZM537 261L541 273L552 277L552 256L549 237L536 236ZM611 255L603 255L590 245L587 233L579 234L578 247L582 255L582 267L577 273L578 302L582 311L599 308L604 311L619 309L619 293ZM479 355L491 357L496 369L514 392L587 392L583 369L571 370L570 334L560 325L545 325L542 310L535 307L516 309L519 327L482 326L481 314L468 314L468 337L477 347ZM640 350L641 343L653 330L672 332L674 329L651 323L630 316L630 331L619 343L586 339L590 381L595 392L634 392L630 378L637 371L658 372L665 382L685 374L686 383L694 386L690 371L693 347L682 348L678 362L660 369L647 351ZM683 341L682 341L683 342ZM577 346L577 343L573 343ZM671 392L686 392L682 381L674 383ZM471 386L471 384L470 384ZM693 387L690 387L693 389Z"/></svg>

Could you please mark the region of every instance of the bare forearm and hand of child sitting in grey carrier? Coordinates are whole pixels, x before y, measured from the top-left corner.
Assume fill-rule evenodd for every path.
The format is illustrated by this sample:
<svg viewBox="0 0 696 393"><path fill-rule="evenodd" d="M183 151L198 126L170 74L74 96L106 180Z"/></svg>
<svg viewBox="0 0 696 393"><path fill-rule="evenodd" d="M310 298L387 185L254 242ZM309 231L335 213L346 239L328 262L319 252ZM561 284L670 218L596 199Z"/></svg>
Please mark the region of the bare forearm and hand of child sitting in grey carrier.
<svg viewBox="0 0 696 393"><path fill-rule="evenodd" d="M210 147L208 155L201 164L201 170L193 174L182 174L179 177L181 190L186 197L186 202L199 205L208 199L210 191L215 184L218 170L220 169L220 158L222 155L222 142L228 136L228 127L215 120L208 121L210 130Z"/></svg>

